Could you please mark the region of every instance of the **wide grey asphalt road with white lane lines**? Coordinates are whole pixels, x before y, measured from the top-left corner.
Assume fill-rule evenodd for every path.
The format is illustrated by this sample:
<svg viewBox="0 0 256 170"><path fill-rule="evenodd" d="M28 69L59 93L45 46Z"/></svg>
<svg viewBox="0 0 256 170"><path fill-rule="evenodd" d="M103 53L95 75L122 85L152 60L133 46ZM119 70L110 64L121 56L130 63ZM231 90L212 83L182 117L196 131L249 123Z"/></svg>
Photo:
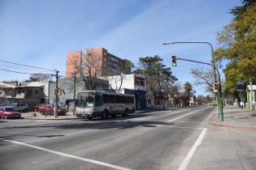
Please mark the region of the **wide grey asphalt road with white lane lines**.
<svg viewBox="0 0 256 170"><path fill-rule="evenodd" d="M182 169L213 109L106 121L0 120L0 169Z"/></svg>

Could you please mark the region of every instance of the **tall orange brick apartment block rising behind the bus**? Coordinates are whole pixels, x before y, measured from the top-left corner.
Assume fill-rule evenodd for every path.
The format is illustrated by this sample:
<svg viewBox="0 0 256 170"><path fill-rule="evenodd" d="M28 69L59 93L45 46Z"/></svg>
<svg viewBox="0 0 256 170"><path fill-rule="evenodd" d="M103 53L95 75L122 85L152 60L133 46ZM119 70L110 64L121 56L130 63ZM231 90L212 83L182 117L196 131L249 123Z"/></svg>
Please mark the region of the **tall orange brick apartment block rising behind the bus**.
<svg viewBox="0 0 256 170"><path fill-rule="evenodd" d="M67 78L80 77L81 73L89 77L102 77L127 73L128 60L108 53L104 48L87 49L67 53Z"/></svg>

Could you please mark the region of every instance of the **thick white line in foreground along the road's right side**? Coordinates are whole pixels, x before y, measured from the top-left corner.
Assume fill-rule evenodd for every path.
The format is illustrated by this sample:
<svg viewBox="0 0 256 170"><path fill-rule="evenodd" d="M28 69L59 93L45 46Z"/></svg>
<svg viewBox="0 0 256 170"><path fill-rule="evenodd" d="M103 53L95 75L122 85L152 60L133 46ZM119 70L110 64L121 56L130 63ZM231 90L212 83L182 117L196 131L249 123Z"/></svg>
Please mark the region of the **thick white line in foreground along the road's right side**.
<svg viewBox="0 0 256 170"><path fill-rule="evenodd" d="M186 155L186 157L183 159L183 161L180 164L180 167L178 168L178 170L184 170L184 169L187 168L190 159L193 157L193 154L197 150L197 147L199 147L201 145L203 138L206 136L206 131L207 131L206 128L204 128L202 130L202 133L197 138L197 141L193 144L193 147L190 149L188 155Z"/></svg>

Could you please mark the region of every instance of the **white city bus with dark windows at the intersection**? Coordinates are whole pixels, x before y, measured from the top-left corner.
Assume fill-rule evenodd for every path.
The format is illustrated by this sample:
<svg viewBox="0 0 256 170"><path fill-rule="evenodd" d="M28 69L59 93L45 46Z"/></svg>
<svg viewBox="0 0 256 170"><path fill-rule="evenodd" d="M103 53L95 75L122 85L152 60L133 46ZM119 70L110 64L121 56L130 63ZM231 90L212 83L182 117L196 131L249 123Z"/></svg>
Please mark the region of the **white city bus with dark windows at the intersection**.
<svg viewBox="0 0 256 170"><path fill-rule="evenodd" d="M76 117L128 116L135 112L134 96L108 91L80 91L76 98Z"/></svg>

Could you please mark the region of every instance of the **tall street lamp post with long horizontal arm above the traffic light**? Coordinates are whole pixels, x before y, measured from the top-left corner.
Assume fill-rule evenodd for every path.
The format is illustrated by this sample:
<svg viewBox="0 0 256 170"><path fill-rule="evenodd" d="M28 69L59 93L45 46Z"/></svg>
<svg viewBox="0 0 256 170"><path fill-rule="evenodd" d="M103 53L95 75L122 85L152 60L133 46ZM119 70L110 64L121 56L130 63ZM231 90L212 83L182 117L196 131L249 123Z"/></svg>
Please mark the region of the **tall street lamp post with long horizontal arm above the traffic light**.
<svg viewBox="0 0 256 170"><path fill-rule="evenodd" d="M210 45L210 49L211 49L211 63L212 63L212 67L214 69L214 75L215 75L215 82L217 82L217 78L216 78L216 67L215 67L215 58L214 58L214 51L213 51L213 47L210 44L210 42L206 42L206 41L179 41L179 42L171 42L171 43L163 43L163 45L175 45L175 44L206 44L206 45ZM181 58L180 58L181 59ZM184 59L183 59L184 60ZM189 60L186 60L189 61ZM189 61L189 62L193 62L193 61ZM200 63L200 62L199 62ZM202 63L202 62L201 62ZM210 64L208 64L210 65ZM217 70L218 71L218 70ZM220 80L220 74L218 71L218 75L219 75L219 104L220 104L220 112L222 115L222 121L223 121L223 101L222 101L222 92L221 92L221 80Z"/></svg>

